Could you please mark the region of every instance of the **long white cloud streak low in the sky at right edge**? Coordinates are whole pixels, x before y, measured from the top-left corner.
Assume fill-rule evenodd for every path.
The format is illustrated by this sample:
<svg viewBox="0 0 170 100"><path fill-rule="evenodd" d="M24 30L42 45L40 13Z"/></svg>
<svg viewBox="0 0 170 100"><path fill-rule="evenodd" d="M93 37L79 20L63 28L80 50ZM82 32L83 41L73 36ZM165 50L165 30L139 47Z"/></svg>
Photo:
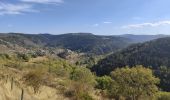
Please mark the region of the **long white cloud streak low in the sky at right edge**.
<svg viewBox="0 0 170 100"><path fill-rule="evenodd" d="M122 26L122 28L143 28L143 27L158 27L162 25L170 25L170 20L168 21L159 21L154 23L142 23L142 24L131 24Z"/></svg>

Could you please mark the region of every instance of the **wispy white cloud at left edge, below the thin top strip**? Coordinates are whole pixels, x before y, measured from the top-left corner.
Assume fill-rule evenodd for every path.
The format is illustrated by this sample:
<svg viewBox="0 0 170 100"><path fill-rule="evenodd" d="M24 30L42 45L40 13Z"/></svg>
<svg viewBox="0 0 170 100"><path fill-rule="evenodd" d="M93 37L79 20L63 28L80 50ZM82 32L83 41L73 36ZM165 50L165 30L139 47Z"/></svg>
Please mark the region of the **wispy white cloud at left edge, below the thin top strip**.
<svg viewBox="0 0 170 100"><path fill-rule="evenodd" d="M10 4L0 2L0 15L23 14L25 12L37 12L29 4Z"/></svg>

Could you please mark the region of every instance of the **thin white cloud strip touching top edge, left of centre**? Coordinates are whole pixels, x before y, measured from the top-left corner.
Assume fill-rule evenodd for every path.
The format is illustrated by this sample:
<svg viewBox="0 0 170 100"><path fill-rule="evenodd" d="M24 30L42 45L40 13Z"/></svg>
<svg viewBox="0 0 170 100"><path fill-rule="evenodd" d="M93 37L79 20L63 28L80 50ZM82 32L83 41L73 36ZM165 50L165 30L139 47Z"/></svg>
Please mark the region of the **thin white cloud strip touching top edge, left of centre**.
<svg viewBox="0 0 170 100"><path fill-rule="evenodd" d="M20 0L22 2L27 3L41 3L41 4L56 4L56 3L63 3L63 0Z"/></svg>

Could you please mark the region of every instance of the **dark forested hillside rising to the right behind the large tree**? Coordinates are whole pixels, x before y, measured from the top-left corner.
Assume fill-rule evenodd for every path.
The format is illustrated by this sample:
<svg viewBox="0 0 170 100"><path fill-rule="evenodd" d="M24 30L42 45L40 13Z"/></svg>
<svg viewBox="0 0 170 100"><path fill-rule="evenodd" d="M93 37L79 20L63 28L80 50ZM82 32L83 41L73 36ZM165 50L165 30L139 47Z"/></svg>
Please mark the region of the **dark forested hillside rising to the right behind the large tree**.
<svg viewBox="0 0 170 100"><path fill-rule="evenodd" d="M152 69L170 66L170 37L129 46L99 61L92 70L98 75L105 75L126 65L144 65Z"/></svg>

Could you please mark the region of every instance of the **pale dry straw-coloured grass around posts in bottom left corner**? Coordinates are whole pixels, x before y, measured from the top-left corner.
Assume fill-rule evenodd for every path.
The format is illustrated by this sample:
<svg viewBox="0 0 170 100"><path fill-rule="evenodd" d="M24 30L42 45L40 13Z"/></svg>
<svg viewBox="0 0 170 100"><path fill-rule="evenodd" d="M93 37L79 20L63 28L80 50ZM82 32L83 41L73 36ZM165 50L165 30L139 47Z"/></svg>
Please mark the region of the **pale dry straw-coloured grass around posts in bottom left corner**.
<svg viewBox="0 0 170 100"><path fill-rule="evenodd" d="M38 93L33 88L25 87L21 82L23 72L13 68L1 68L0 70L0 100L20 100L22 88L24 89L24 100L68 100L58 90L48 86L41 86ZM11 90L12 78L14 80Z"/></svg>

